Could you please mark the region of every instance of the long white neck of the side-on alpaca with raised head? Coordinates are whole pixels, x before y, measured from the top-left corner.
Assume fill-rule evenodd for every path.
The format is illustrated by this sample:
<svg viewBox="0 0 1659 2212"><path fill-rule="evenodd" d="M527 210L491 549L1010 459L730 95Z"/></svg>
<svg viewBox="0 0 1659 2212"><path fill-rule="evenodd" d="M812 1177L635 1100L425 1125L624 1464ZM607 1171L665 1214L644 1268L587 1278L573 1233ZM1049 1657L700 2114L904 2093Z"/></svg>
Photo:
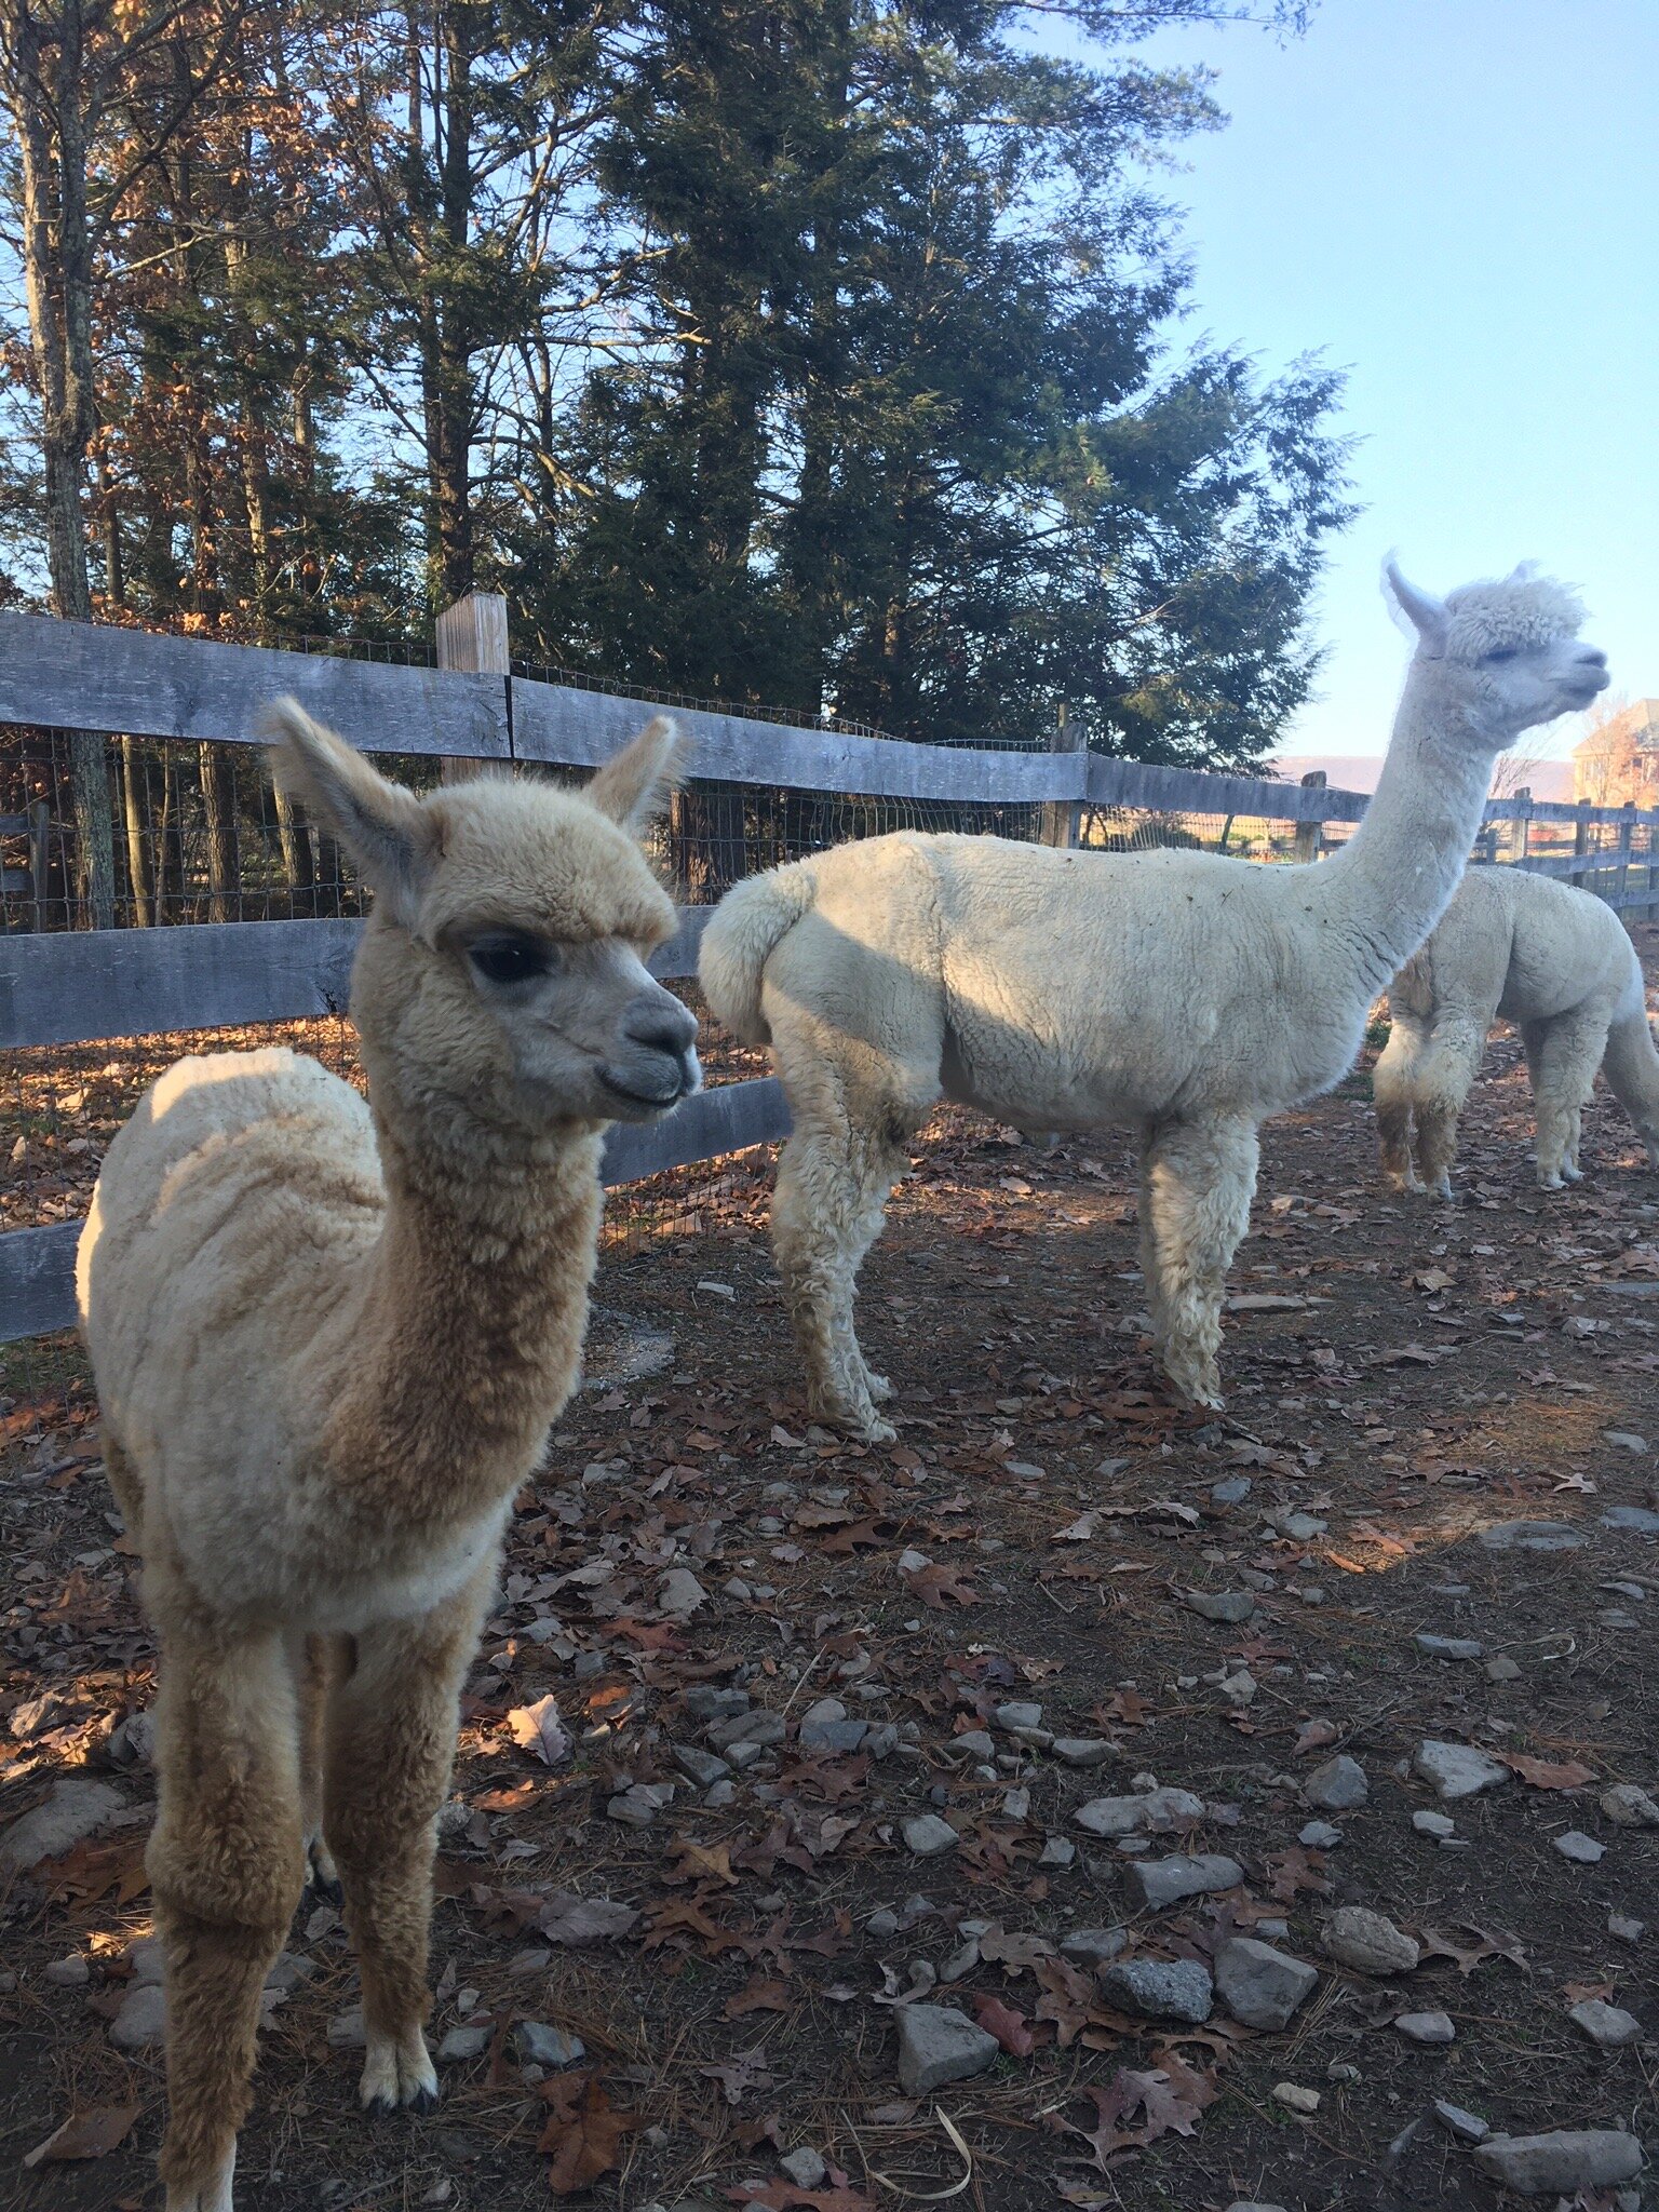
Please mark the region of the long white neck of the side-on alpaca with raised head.
<svg viewBox="0 0 1659 2212"><path fill-rule="evenodd" d="M1367 1002L1422 945L1462 880L1491 781L1491 743L1436 699L1413 661L1376 794L1354 836L1310 869L1310 911L1329 931L1332 989Z"/></svg>

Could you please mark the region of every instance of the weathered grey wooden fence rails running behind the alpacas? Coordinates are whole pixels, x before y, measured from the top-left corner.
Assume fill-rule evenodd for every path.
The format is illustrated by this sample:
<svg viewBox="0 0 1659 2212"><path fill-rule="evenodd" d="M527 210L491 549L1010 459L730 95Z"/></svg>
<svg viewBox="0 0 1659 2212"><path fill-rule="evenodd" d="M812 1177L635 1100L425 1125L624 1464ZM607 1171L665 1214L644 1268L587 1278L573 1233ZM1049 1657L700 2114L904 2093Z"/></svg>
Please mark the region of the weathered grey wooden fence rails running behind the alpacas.
<svg viewBox="0 0 1659 2212"><path fill-rule="evenodd" d="M549 768L593 768L659 712L653 701L507 672L403 668L0 615L0 723L257 745L261 708L279 692L299 697L365 752ZM1294 823L1294 849L1303 854L1316 849L1321 825L1356 823L1367 807L1363 792L1152 768L1075 745L973 752L706 708L672 712L690 739L690 772L703 783L854 801L865 816L891 803L1029 807L1031 834L1051 841L1055 823L1068 825L1060 841L1071 841L1079 816L1095 825L1128 812L1164 823L1203 816L1223 821L1223 845L1234 821ZM838 818L825 821L830 832L849 834ZM1599 891L1608 905L1659 907L1659 812L1533 801L1522 792L1491 801L1486 823L1489 845L1500 825L1520 832L1513 860L1522 867L1562 878L1613 876L1617 887ZM4 825L0 816L0 834ZM1533 825L1573 825L1575 847L1586 849L1528 854ZM849 827L856 834L858 821ZM1646 854L1632 852L1637 830L1646 832ZM1615 843L1590 852L1590 836L1601 832L1613 832ZM1646 874L1644 887L1630 889L1632 869ZM44 874L44 863L35 874ZM717 896L721 883L706 889ZM40 914L40 880L33 891ZM657 975L695 975L708 911L706 905L681 907L679 933L653 960ZM325 916L0 933L0 1046L84 1044L338 1013L358 929L349 916ZM655 1128L613 1130L604 1179L608 1186L641 1181L785 1133L787 1110L774 1079L721 1084ZM0 1340L73 1323L77 1234L77 1221L60 1221L0 1237Z"/></svg>

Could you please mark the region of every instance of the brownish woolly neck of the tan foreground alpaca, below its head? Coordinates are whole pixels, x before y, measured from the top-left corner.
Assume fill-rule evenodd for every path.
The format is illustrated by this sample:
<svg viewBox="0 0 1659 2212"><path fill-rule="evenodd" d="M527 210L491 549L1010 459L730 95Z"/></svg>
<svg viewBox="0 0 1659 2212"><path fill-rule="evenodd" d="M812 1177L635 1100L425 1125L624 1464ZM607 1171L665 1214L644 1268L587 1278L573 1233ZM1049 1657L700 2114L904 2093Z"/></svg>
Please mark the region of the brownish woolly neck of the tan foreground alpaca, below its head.
<svg viewBox="0 0 1659 2212"><path fill-rule="evenodd" d="M387 1212L332 1420L363 1509L465 1520L533 1464L582 1356L599 1135L447 1130L376 1099Z"/></svg>

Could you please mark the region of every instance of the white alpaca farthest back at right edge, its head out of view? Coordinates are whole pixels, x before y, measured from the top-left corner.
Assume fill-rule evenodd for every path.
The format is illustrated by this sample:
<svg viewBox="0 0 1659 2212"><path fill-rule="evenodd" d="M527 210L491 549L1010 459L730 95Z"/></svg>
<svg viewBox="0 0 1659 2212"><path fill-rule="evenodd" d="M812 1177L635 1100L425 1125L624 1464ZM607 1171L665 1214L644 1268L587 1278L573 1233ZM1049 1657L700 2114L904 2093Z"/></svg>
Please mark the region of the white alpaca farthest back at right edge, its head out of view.
<svg viewBox="0 0 1659 2212"><path fill-rule="evenodd" d="M1458 1115L1500 1018L1526 1044L1544 1190L1579 1179L1579 1117L1597 1068L1659 1168L1659 1051L1641 962L1619 916L1588 891L1517 867L1471 869L1394 978L1389 1013L1374 1088L1383 1172L1398 1190L1451 1197Z"/></svg>

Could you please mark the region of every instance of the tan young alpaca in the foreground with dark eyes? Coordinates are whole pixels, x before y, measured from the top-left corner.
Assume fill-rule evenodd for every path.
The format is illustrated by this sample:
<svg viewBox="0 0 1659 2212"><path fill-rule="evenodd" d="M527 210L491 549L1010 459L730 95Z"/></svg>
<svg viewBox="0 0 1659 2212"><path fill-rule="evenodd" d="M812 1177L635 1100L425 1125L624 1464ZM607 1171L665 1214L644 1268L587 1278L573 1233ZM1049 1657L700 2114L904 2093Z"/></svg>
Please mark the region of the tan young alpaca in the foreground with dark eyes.
<svg viewBox="0 0 1659 2212"><path fill-rule="evenodd" d="M416 799L292 701L272 732L374 887L369 1104L288 1051L181 1060L111 1146L77 1261L161 1646L168 2212L232 2203L307 1845L345 1887L363 2104L436 2095L434 1818L502 1524L577 1374L602 1133L699 1079L644 967L675 909L630 834L672 723L580 796Z"/></svg>

